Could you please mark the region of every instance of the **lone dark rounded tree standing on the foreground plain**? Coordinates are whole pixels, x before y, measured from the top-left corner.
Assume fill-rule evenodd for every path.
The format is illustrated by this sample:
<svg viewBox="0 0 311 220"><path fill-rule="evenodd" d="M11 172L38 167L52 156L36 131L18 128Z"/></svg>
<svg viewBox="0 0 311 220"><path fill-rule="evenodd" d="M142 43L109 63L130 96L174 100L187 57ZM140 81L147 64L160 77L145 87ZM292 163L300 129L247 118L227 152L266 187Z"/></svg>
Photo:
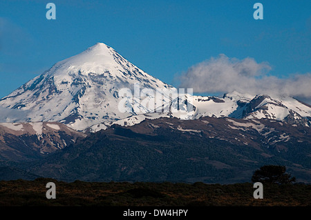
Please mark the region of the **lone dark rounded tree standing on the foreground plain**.
<svg viewBox="0 0 311 220"><path fill-rule="evenodd" d="M285 166L267 165L256 170L252 176L252 182L291 184L296 181L296 177L291 177L285 173Z"/></svg>

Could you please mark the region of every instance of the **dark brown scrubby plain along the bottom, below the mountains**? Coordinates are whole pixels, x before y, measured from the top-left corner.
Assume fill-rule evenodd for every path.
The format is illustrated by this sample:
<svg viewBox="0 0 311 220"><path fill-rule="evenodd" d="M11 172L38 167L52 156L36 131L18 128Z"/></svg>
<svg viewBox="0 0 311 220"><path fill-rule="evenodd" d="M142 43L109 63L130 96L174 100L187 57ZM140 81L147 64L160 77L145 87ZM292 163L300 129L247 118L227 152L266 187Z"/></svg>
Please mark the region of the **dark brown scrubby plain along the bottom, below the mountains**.
<svg viewBox="0 0 311 220"><path fill-rule="evenodd" d="M46 199L46 183L56 185L56 199ZM252 183L66 183L39 178L0 181L0 206L310 206L311 185L263 185L254 199Z"/></svg>

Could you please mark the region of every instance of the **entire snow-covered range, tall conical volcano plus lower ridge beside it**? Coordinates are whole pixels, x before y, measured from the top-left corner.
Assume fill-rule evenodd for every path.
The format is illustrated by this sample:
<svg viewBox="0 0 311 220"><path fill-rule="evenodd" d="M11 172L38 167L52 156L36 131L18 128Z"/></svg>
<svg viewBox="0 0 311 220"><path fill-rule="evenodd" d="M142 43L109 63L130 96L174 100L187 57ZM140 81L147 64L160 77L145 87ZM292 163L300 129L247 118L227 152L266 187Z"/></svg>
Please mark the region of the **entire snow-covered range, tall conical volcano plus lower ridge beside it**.
<svg viewBox="0 0 311 220"><path fill-rule="evenodd" d="M187 88L185 88L187 89ZM2 122L57 121L95 132L113 123L130 126L159 117L273 119L310 126L311 107L291 97L232 92L223 97L194 96L147 74L104 43L55 63L28 81L0 107L19 110ZM138 115L139 114L139 115ZM88 129L89 128L89 129Z"/></svg>

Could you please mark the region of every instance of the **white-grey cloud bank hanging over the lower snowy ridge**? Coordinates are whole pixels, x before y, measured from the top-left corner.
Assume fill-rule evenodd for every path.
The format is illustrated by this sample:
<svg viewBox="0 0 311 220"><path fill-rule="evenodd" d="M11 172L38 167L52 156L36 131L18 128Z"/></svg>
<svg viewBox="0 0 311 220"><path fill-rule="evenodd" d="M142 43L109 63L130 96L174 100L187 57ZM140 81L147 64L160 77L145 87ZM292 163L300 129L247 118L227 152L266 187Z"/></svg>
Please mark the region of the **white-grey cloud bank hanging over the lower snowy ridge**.
<svg viewBox="0 0 311 220"><path fill-rule="evenodd" d="M311 73L292 74L287 78L269 76L269 63L257 63L220 54L192 66L178 76L180 88L194 88L198 93L241 92L248 94L280 94L311 98Z"/></svg>

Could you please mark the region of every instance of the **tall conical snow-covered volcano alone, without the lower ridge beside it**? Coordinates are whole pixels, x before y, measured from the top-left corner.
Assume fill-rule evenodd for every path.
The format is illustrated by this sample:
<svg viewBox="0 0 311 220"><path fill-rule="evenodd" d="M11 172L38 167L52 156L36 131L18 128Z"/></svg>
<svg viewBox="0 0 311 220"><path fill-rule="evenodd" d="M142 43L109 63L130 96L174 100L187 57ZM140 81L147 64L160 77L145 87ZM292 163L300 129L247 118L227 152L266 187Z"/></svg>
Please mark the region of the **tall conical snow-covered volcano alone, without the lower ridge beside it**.
<svg viewBox="0 0 311 220"><path fill-rule="evenodd" d="M113 48L96 43L74 57L55 63L50 70L1 99L0 106L26 110L23 121L60 121L84 130L95 123L153 110L154 106L140 105L140 100L125 101L123 108L130 110L118 110L124 95L119 94L120 90L133 90L133 85L151 90L172 88L134 66ZM163 97L162 101L170 99Z"/></svg>

